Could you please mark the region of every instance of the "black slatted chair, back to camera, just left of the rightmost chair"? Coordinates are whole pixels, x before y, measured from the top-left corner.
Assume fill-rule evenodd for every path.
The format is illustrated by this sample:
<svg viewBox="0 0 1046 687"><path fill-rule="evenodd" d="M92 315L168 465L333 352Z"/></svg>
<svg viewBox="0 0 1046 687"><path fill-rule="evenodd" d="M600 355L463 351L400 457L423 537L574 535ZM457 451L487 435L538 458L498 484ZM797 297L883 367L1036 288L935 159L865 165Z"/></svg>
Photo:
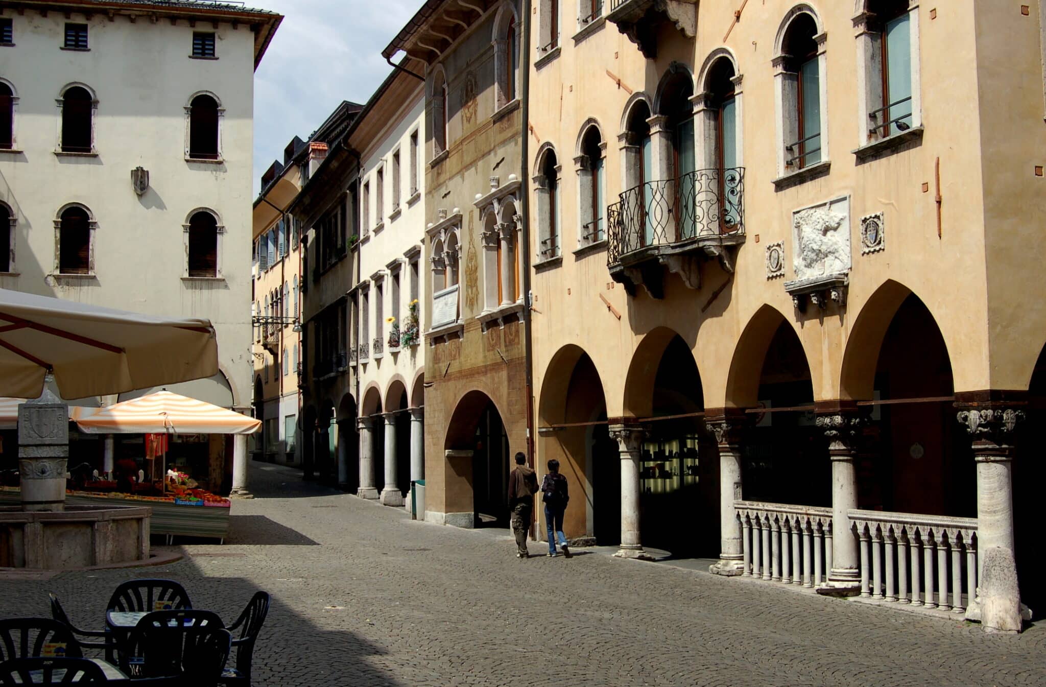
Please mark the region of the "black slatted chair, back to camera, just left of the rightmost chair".
<svg viewBox="0 0 1046 687"><path fill-rule="evenodd" d="M217 685L229 659L232 636L218 614L182 609L157 611L138 621L119 649L120 670L132 678L191 678L195 687Z"/></svg>

